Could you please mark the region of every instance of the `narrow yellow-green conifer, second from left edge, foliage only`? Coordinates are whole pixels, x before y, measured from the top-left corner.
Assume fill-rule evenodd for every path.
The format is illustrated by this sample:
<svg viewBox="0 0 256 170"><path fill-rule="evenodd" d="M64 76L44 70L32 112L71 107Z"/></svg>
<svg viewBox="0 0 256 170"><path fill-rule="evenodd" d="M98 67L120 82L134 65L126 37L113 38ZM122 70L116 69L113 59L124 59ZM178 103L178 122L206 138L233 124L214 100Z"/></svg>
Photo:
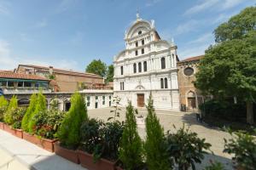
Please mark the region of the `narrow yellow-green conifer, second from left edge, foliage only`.
<svg viewBox="0 0 256 170"><path fill-rule="evenodd" d="M9 125L12 125L15 122L13 118L13 113L17 108L18 108L18 100L17 100L17 97L14 95L12 99L10 99L9 101L7 111L3 114L3 121Z"/></svg>

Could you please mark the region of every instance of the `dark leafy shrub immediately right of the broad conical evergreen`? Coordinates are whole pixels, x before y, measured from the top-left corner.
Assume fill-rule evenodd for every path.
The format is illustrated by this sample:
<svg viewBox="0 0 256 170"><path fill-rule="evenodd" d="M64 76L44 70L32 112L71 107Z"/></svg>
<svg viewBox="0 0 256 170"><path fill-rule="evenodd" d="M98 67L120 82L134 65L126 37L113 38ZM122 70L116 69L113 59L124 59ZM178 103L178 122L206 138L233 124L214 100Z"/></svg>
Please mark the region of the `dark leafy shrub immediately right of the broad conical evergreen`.
<svg viewBox="0 0 256 170"><path fill-rule="evenodd" d="M81 126L80 149L93 155L94 160L98 160L103 152L102 128L104 123L96 119L83 122Z"/></svg>

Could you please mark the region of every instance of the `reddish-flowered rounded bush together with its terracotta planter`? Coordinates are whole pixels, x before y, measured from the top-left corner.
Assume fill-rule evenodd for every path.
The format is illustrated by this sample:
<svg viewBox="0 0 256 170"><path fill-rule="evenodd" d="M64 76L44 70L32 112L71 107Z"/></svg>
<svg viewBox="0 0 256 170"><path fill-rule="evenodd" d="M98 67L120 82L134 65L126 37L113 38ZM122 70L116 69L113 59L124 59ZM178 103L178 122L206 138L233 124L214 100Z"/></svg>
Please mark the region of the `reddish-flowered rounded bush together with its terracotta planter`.
<svg viewBox="0 0 256 170"><path fill-rule="evenodd" d="M55 133L61 125L63 112L57 110L40 111L32 117L35 122L33 133L40 139L38 144L44 150L54 152Z"/></svg>

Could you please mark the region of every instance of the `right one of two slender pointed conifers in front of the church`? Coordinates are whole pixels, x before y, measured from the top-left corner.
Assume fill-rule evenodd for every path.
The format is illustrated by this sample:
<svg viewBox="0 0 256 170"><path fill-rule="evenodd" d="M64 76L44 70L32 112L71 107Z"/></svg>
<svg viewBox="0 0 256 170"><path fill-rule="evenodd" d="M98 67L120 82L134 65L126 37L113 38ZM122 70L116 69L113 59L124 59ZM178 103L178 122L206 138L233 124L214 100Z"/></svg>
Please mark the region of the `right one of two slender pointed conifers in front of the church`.
<svg viewBox="0 0 256 170"><path fill-rule="evenodd" d="M161 127L159 119L155 115L152 94L150 94L148 99L147 110L147 136L144 144L144 150L146 154L148 169L170 169L172 168L172 162L168 161L168 155L166 153L167 149L164 139L164 129Z"/></svg>

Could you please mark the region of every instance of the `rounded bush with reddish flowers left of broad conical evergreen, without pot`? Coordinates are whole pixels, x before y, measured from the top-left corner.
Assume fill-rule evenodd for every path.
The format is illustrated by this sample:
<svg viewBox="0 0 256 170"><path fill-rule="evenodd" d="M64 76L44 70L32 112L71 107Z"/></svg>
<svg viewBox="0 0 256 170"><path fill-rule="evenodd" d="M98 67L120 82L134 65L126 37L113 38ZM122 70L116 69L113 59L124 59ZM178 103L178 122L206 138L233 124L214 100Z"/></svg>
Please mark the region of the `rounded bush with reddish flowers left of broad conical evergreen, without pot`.
<svg viewBox="0 0 256 170"><path fill-rule="evenodd" d="M44 139L55 139L55 133L61 126L64 113L57 110L39 111L32 117L35 122L33 133Z"/></svg>

